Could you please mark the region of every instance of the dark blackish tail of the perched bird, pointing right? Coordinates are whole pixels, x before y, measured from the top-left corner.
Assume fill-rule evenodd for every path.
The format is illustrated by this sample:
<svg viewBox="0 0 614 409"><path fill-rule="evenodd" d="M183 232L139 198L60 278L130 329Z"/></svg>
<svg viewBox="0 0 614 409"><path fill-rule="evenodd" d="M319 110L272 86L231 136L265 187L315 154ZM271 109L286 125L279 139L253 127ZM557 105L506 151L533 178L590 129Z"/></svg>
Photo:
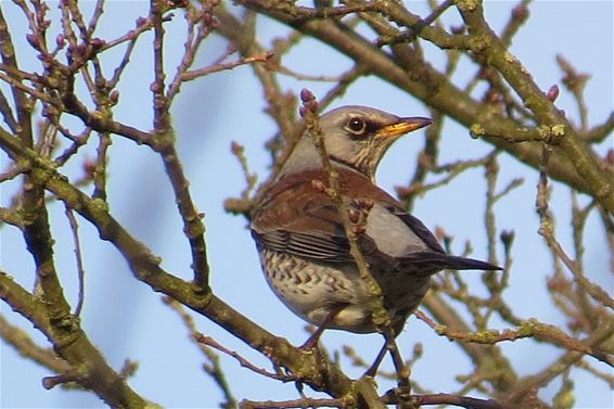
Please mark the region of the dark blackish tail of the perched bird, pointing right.
<svg viewBox="0 0 614 409"><path fill-rule="evenodd" d="M487 261L473 258L450 256L446 253L418 252L404 256L399 259L401 265L407 265L412 270L423 270L425 273L433 273L445 268L451 270L502 270Z"/></svg>

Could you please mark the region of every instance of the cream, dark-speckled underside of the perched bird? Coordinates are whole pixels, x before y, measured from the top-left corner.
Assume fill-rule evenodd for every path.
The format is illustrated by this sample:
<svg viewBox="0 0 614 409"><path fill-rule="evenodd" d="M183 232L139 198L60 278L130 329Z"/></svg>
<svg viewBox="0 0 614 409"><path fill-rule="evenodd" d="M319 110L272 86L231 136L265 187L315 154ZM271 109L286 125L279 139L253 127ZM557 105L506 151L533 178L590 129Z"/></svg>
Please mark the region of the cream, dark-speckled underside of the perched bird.
<svg viewBox="0 0 614 409"><path fill-rule="evenodd" d="M260 251L260 263L269 286L295 314L319 325L331 310L345 306L331 329L368 333L376 329L366 308L369 294L353 264L324 265L283 252ZM428 278L412 278L404 271L372 271L385 294L384 306L393 327L400 331L428 289Z"/></svg>

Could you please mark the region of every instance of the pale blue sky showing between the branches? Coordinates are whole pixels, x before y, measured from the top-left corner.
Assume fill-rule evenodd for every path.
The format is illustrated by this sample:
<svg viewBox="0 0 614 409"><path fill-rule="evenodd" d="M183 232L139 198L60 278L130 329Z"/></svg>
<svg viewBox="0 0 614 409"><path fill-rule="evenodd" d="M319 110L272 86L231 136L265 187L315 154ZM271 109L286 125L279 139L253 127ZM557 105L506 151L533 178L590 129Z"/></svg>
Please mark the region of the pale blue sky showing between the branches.
<svg viewBox="0 0 614 409"><path fill-rule="evenodd" d="M425 15L422 2L407 2L412 11ZM516 2L486 1L485 9L489 23L500 31L507 22L510 10ZM91 3L84 3L86 9ZM14 41L24 47L26 24L15 8L2 1L12 33L21 33ZM57 13L52 5L52 12ZM145 15L145 1L110 2L102 18L99 36L105 39L124 34L133 27L138 16ZM557 105L577 122L577 110L573 100L563 90L562 74L554 56L562 53L580 72L591 74L586 88L589 105L589 123L602 123L613 108L613 3L611 1L536 1L529 8L532 17L514 38L512 52L533 73L536 82L548 89L558 84L561 95ZM88 16L89 14L86 14ZM181 20L180 11L176 12ZM446 25L460 20L455 10L445 14ZM180 29L168 26L166 64L169 75L175 73L182 52L182 24ZM259 40L270 44L270 40L287 29L266 18L258 23ZM57 28L55 28L57 29ZM21 31L23 30L23 31ZM50 36L50 38L53 38ZM120 85L120 103L116 118L138 128L151 128L152 81L151 35L139 40L133 63L125 74ZM174 38L177 40L174 42ZM220 39L205 43L196 66L205 66L225 49ZM26 60L27 53L17 49L24 69L37 67L35 60ZM119 54L115 54L117 57ZM111 62L106 66L110 75ZM104 60L103 60L104 62ZM310 75L335 75L348 67L350 61L327 51L315 40L306 39L296 48L283 64L290 68ZM469 64L465 65L465 67ZM35 68L40 72L40 68ZM459 78L474 74L473 68L459 72ZM281 77L286 90L298 92L308 87L318 97L331 87L330 84L297 81ZM4 88L3 88L4 89ZM362 78L353 86L346 95L335 103L372 105L401 116L427 115L419 102L406 93L375 78ZM230 153L231 141L245 146L251 169L258 174L259 180L268 176L269 164L263 151L264 143L276 131L274 124L263 113L263 91L250 67L239 67L222 72L196 82L186 85L174 105L174 125L179 137L178 148L186 172L191 180L191 192L200 210L205 213L207 228L207 251L212 269L212 286L216 294L232 307L245 314L274 334L287 337L299 345L306 337L304 322L279 302L268 289L261 274L255 246L246 229L246 220L223 212L223 200L239 196L244 188L244 178L236 159ZM418 139L418 140L417 140ZM423 132L415 132L399 140L388 152L379 171L379 184L391 193L394 186L409 180L414 164L411 162L422 146ZM95 146L89 146L93 152ZM602 153L613 148L610 138L602 146ZM459 158L477 157L491 148L469 137L466 129L448 120L442 151L442 163ZM93 154L92 154L93 156ZM7 158L1 156L2 169ZM509 180L522 176L524 184L513 191L497 205L497 228L514 230L514 265L511 286L506 299L514 306L517 316L536 317L542 322L564 324L561 316L553 310L545 290L545 274L551 270L550 256L545 252L542 239L537 234L538 219L534 209L537 175L519 164L515 159L501 156L502 174L500 187ZM81 175L78 164L71 167L71 176ZM455 237L453 252L460 253L465 240L471 240L475 252L473 256L485 258L484 175L482 170L468 171L445 189L430 193L415 202L414 215L434 228L445 227ZM3 190L1 203L7 206L11 191ZM108 194L111 210L116 218L154 253L163 257L163 267L184 279L190 279L190 253L181 232L181 222L172 201L170 184L164 174L161 159L144 146L114 138L111 148ZM559 214L558 238L571 248L570 194L557 186L552 206ZM581 197L586 202L586 197ZM53 232L57 237L55 254L66 294L76 299L76 272L73 241L64 207L51 206ZM115 248L101 242L98 233L88 222L79 218L80 238L87 271L86 301L82 311L82 325L90 338L100 347L108 362L119 369L125 359L140 363L130 385L141 396L165 407L216 407L221 395L203 373L203 357L188 340L188 332L177 315L161 302L159 294L133 279L126 263ZM33 268L28 254L23 250L23 239L12 228L0 230L0 267L14 276L15 280L31 287ZM502 251L498 248L499 257ZM586 234L586 272L612 294L612 276L607 272L607 250L603 233L594 219L589 221ZM479 291L477 274L470 280L472 289ZM2 315L28 331L31 325L13 314L7 305L0 306ZM197 329L227 347L240 352L254 363L267 367L268 362L258 353L251 350L239 340L205 318L194 316ZM495 322L496 324L496 322ZM40 345L46 340L34 333ZM366 360L371 360L382 340L379 335L356 335L340 331L327 331L323 344L338 348L349 344ZM455 392L459 383L455 374L469 373L471 363L458 346L438 337L421 321L411 318L405 332L399 336L399 345L409 356L413 345L424 346L424 358L414 367L412 375L425 387L434 392ZM543 368L561 354L552 347L533 342L519 341L501 345L507 356L516 362L521 374L528 374ZM589 358L590 359L590 358ZM293 384L281 384L263 379L241 368L232 358L222 356L221 365L231 381L231 388L239 399L284 399L296 398ZM594 360L591 361L594 363ZM386 368L391 363L385 361ZM353 376L362 370L351 368L347 361L344 369ZM596 365L607 371L604 366ZM0 406L3 408L43 407L100 407L101 401L91 393L64 392L60 387L46 391L41 379L51 373L28 360L20 358L5 345L0 345ZM581 370L574 371L576 382L576 407L612 407L612 393L606 384L596 381ZM388 386L381 383L381 391ZM558 391L554 382L542 393L550 399ZM316 394L314 394L316 396Z"/></svg>

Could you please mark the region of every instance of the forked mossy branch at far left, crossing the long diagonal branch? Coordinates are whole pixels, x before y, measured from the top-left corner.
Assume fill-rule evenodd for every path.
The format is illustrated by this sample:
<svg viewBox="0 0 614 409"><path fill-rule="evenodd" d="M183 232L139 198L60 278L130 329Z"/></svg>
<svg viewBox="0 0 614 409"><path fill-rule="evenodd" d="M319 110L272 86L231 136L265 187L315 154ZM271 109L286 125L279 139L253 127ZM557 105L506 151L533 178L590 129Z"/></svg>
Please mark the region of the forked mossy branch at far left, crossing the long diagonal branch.
<svg viewBox="0 0 614 409"><path fill-rule="evenodd" d="M1 9L0 38L2 39L0 40L0 54L3 65L8 66L11 72L18 72L15 51L12 48L11 37ZM3 129L0 130L0 133L13 146L33 149L33 104L25 97L23 89L17 86L21 82L14 80L11 84L20 124L18 139L8 135ZM3 148L9 151L5 146ZM14 162L18 164L22 162L22 157L14 156L15 152L8 153L15 159ZM39 175L33 170L26 172L22 193L23 217L26 220L23 235L36 266L41 301L38 302L38 298L28 294L3 272L0 274L0 296L12 308L33 321L53 342L55 353L66 360L71 367L85 366L89 369L81 371L79 382L84 386L91 387L110 405L126 405L128 400L142 402L142 399L126 384L117 382L118 376L108 368L102 355L91 345L79 328L77 320L71 316L69 305L64 297L54 265L53 239L44 201L43 180L38 178ZM44 312L35 311L36 308ZM94 380L98 374L105 375L106 380L101 382Z"/></svg>

